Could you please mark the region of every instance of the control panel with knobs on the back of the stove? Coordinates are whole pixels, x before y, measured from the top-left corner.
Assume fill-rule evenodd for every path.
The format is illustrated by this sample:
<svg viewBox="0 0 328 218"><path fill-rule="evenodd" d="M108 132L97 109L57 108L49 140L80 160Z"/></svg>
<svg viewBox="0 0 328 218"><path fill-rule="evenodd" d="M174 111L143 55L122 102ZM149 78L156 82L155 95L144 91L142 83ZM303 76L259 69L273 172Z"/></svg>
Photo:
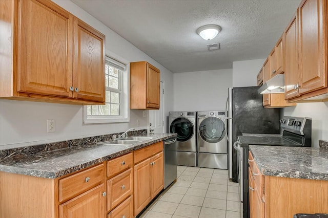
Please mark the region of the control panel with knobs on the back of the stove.
<svg viewBox="0 0 328 218"><path fill-rule="evenodd" d="M303 129L312 126L312 119L308 117L283 117L280 120L280 127L289 132L304 135Z"/></svg>

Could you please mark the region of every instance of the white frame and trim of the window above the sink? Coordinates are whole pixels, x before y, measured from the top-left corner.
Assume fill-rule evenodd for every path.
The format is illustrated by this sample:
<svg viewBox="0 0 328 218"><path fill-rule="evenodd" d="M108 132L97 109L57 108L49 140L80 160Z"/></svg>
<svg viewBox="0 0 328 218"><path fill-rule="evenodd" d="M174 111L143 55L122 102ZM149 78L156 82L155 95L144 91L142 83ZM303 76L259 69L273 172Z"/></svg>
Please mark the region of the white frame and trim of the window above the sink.
<svg viewBox="0 0 328 218"><path fill-rule="evenodd" d="M130 121L130 64L124 58L121 58L111 52L106 52L106 58L113 59L121 64L125 64L125 70L121 70L119 78L120 89L120 115L88 115L87 105L83 106L83 123L121 123ZM104 72L105 76L105 72ZM107 91L117 92L116 89L106 87Z"/></svg>

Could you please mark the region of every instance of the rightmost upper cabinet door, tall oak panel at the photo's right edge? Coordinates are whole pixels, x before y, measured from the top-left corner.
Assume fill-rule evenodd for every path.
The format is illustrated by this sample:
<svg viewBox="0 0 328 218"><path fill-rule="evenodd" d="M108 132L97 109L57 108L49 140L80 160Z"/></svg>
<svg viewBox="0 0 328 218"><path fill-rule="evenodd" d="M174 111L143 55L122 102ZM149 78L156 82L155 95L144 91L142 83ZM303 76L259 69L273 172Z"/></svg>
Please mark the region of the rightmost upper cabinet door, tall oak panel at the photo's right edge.
<svg viewBox="0 0 328 218"><path fill-rule="evenodd" d="M327 87L326 1L304 1L299 7L300 90Z"/></svg>

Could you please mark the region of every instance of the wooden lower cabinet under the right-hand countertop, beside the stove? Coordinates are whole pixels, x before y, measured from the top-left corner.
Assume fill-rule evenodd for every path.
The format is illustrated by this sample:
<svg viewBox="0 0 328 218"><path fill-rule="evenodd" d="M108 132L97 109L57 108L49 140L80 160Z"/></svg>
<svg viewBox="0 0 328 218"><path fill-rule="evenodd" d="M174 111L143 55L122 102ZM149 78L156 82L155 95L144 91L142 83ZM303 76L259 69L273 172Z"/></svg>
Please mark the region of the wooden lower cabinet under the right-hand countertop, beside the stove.
<svg viewBox="0 0 328 218"><path fill-rule="evenodd" d="M250 217L328 213L328 181L262 176L249 153Z"/></svg>

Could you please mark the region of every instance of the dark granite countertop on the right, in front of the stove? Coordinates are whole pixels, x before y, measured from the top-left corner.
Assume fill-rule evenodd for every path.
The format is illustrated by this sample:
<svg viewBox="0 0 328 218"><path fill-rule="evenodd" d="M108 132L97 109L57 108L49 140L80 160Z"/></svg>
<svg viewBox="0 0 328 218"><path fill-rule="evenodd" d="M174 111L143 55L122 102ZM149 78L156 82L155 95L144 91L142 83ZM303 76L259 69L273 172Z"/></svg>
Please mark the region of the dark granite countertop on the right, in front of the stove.
<svg viewBox="0 0 328 218"><path fill-rule="evenodd" d="M328 149L250 145L264 176L328 180Z"/></svg>

